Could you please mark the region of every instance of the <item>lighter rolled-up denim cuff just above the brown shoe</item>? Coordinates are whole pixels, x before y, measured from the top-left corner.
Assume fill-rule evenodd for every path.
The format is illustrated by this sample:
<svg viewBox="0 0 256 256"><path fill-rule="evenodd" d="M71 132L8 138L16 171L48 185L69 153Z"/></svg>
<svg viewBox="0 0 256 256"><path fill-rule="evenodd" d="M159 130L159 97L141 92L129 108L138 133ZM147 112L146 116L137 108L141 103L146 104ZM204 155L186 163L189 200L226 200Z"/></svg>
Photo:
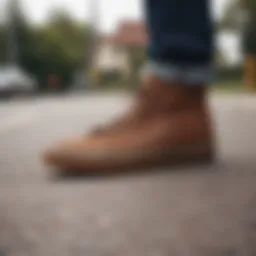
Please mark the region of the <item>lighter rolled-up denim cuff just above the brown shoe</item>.
<svg viewBox="0 0 256 256"><path fill-rule="evenodd" d="M154 74L164 81L176 81L188 85L210 84L214 81L212 66L177 66L159 62L149 62L143 71L144 75Z"/></svg>

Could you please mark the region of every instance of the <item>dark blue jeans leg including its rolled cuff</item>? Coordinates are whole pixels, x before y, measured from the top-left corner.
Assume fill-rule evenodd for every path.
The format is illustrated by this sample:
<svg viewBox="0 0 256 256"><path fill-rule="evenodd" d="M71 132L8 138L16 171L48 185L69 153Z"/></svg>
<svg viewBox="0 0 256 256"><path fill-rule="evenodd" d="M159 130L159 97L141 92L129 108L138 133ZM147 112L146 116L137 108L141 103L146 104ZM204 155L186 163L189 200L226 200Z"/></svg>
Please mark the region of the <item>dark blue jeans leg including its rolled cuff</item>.
<svg viewBox="0 0 256 256"><path fill-rule="evenodd" d="M213 28L208 0L146 0L149 72L186 84L213 77Z"/></svg>

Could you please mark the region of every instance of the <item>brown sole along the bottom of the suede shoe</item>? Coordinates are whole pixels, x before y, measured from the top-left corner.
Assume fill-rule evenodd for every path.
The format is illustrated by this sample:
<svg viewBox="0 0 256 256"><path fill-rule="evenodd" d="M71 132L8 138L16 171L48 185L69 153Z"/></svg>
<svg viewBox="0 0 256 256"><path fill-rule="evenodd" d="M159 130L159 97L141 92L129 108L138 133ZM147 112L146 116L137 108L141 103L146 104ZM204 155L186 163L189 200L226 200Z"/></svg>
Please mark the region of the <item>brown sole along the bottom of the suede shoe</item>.
<svg viewBox="0 0 256 256"><path fill-rule="evenodd" d="M191 146L186 149L59 152L55 157L44 157L48 166L54 167L54 176L81 177L135 173L157 167L211 164L215 155L209 145Z"/></svg>

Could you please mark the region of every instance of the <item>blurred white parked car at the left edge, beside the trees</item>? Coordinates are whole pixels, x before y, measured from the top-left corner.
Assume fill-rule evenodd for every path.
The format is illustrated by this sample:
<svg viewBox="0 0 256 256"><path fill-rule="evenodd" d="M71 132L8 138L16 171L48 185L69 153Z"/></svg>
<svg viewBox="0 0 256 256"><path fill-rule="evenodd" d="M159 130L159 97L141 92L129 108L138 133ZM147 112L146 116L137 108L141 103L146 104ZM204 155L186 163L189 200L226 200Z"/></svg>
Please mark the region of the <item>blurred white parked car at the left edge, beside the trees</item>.
<svg viewBox="0 0 256 256"><path fill-rule="evenodd" d="M36 89L36 80L21 69L0 67L0 96L31 95Z"/></svg>

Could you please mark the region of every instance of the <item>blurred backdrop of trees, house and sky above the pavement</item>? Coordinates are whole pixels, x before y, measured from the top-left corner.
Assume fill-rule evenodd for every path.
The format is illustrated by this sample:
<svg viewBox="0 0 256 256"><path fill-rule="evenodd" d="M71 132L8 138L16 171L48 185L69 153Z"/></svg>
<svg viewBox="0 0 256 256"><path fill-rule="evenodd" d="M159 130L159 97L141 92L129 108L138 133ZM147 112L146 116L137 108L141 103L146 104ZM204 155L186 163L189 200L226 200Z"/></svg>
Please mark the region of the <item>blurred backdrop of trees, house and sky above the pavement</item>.
<svg viewBox="0 0 256 256"><path fill-rule="evenodd" d="M215 89L256 90L255 1L212 2ZM1 0L0 6L2 95L137 86L148 43L141 0Z"/></svg>

